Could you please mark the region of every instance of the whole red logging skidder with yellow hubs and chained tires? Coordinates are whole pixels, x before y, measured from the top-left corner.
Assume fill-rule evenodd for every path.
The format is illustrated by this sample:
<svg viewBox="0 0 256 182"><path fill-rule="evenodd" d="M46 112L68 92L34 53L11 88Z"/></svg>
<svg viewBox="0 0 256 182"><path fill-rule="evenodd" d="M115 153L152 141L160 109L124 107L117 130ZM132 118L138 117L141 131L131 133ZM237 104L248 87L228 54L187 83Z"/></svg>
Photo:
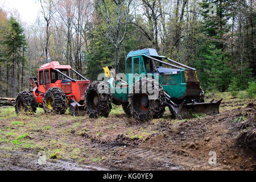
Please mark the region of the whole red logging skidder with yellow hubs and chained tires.
<svg viewBox="0 0 256 182"><path fill-rule="evenodd" d="M71 78L71 72L81 80ZM73 115L84 115L84 93L90 81L70 65L53 61L42 65L38 78L30 77L32 90L18 93L15 100L16 113L36 112L43 107L45 113L64 114L67 108Z"/></svg>

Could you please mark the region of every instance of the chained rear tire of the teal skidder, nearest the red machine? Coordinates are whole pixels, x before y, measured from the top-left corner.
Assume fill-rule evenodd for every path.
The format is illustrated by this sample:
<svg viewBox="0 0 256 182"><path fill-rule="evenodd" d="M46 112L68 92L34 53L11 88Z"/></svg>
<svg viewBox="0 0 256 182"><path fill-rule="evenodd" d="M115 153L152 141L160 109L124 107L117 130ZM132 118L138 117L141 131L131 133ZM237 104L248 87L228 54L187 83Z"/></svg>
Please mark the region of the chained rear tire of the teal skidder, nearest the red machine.
<svg viewBox="0 0 256 182"><path fill-rule="evenodd" d="M108 117L112 109L112 95L104 81L93 81L84 94L85 113L90 118Z"/></svg>

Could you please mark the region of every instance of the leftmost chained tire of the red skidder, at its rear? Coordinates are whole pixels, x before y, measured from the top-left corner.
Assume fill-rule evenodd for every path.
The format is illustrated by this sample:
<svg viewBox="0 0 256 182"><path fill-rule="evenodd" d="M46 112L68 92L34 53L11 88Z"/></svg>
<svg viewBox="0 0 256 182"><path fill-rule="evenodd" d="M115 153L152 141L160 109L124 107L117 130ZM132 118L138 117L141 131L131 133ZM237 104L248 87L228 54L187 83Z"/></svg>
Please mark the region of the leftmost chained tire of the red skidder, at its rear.
<svg viewBox="0 0 256 182"><path fill-rule="evenodd" d="M36 112L36 100L28 91L19 92L15 100L16 114L34 114Z"/></svg>

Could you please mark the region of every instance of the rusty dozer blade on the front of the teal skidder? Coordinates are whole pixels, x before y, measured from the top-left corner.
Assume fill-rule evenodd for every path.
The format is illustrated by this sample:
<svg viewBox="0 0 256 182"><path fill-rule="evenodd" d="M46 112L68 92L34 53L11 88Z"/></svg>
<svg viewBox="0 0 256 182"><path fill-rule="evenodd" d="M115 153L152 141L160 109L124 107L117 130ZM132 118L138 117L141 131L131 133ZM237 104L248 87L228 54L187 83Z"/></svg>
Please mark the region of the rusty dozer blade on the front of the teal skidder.
<svg viewBox="0 0 256 182"><path fill-rule="evenodd" d="M220 113L219 107L221 104L221 100L217 102L203 102L203 103L196 103L196 104L185 104L184 102L181 105L171 105L173 114L175 115L176 119L186 119L192 118L192 114L218 114Z"/></svg>

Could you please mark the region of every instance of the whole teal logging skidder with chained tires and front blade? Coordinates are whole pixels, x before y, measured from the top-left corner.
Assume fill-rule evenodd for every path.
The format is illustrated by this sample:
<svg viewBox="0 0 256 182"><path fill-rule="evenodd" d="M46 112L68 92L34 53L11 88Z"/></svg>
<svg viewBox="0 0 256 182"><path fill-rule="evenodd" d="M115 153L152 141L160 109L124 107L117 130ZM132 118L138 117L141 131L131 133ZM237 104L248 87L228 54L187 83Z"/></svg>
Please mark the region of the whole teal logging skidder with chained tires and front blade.
<svg viewBox="0 0 256 182"><path fill-rule="evenodd" d="M102 98L96 88L99 84L106 85L106 82L109 88L105 88L105 93L112 93L113 103L122 105L127 115L139 121L162 117L166 106L174 118L219 113L222 99L204 102L204 92L200 88L196 69L166 56L159 56L155 49L131 51L126 57L125 76L122 78L115 73L113 67L104 67L104 71L107 81L92 82L92 89L86 90L85 107L90 117L100 114L97 106Z"/></svg>

